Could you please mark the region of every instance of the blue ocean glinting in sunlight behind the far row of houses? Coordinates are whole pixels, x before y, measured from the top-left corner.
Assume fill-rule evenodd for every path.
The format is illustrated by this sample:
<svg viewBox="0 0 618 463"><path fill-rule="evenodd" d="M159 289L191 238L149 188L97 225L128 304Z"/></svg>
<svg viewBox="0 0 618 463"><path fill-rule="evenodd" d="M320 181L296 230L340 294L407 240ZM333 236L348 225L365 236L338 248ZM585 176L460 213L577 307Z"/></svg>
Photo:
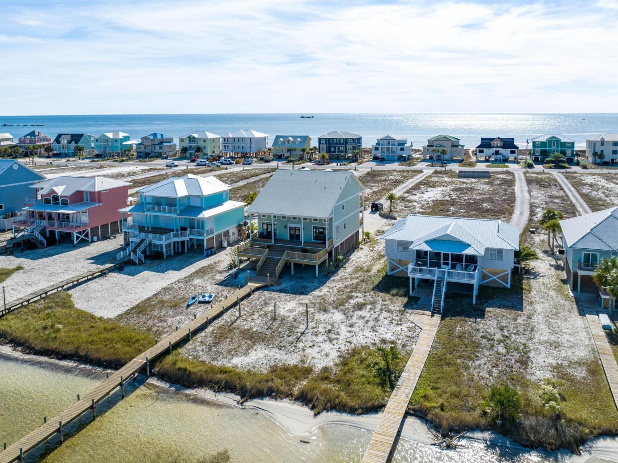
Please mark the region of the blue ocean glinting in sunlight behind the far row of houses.
<svg viewBox="0 0 618 463"><path fill-rule="evenodd" d="M57 133L90 133L120 130L133 140L155 131L174 137L193 130L225 135L239 129L261 131L272 142L276 135L310 135L317 138L332 130L350 131L363 137L363 146L371 146L388 133L407 136L420 147L434 135L453 135L474 148L481 136L514 137L520 148L526 140L543 133L561 133L585 147L586 137L618 132L618 114L122 114L0 116L0 131L15 138L37 129L54 138ZM6 127L2 125L6 124ZM43 124L43 126L31 126ZM19 125L19 126L18 126ZM24 126L26 125L26 126Z"/></svg>

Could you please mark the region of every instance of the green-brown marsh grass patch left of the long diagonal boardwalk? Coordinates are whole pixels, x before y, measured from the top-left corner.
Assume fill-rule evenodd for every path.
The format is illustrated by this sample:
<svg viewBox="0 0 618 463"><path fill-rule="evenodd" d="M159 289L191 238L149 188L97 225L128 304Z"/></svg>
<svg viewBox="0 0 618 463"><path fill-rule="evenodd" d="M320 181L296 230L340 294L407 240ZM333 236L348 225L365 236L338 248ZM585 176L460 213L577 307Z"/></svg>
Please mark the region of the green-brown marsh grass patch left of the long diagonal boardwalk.
<svg viewBox="0 0 618 463"><path fill-rule="evenodd" d="M36 354L121 366L153 346L148 333L77 309L59 291L0 319L0 338Z"/></svg>

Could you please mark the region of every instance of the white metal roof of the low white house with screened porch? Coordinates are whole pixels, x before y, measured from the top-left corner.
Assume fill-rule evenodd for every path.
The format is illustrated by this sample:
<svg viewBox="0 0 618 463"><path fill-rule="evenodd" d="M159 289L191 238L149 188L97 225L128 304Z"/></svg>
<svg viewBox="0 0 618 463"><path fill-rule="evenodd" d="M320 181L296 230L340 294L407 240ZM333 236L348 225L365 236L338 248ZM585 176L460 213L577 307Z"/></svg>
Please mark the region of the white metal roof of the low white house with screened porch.
<svg viewBox="0 0 618 463"><path fill-rule="evenodd" d="M482 256L486 248L519 249L519 228L491 219L410 214L383 240L410 241L410 248Z"/></svg>

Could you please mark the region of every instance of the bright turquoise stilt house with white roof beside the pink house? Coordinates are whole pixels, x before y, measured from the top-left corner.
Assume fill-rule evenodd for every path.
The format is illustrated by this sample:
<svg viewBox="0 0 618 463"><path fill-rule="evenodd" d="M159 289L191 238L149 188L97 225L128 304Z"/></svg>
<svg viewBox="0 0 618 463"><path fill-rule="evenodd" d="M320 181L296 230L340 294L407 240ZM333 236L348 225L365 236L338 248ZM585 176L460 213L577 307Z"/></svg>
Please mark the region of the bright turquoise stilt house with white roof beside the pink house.
<svg viewBox="0 0 618 463"><path fill-rule="evenodd" d="M170 177L138 190L139 204L119 209L129 246L117 256L141 264L145 254L167 257L190 246L219 249L238 240L245 203L229 199L215 177Z"/></svg>

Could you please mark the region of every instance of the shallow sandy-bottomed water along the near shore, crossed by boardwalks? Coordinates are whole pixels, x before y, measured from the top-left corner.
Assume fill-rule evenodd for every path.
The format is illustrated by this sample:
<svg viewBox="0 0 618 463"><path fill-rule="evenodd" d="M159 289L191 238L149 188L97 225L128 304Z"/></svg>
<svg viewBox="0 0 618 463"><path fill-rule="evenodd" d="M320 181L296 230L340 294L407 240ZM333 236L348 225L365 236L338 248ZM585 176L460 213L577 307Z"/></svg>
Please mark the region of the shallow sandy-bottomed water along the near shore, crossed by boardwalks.
<svg viewBox="0 0 618 463"><path fill-rule="evenodd" d="M0 441L11 444L40 425L43 415L51 418L74 401L75 394L87 391L104 376L102 370L78 364L30 356L19 359L0 352ZM297 427L290 426L286 431L285 420L281 420L280 426L276 414L281 415L284 410L292 417L301 415L286 403L277 403L269 413L259 409L273 401L252 401L253 404L242 409L153 383L145 383L136 390L128 386L127 391L130 394L124 401L115 394L101 403L98 410L102 414L95 421L91 422L88 413L83 415L79 423L67 430L71 436L62 446L52 439L45 449L29 454L28 460L33 461L43 452L43 461L47 463L210 462L228 461L227 458L232 462L357 462L371 438L371 432L360 427L375 421L375 416L357 419L352 415L332 414L316 420L315 426L311 421L308 426L299 422ZM342 417L346 423L356 424L329 423L341 422ZM408 419L403 435L421 438L422 427L419 420ZM611 459L618 449L616 439L585 446L582 457L564 452L530 451L503 441L506 446L490 446L483 440L468 439L466 448L441 451L421 441L402 438L393 461L618 461Z"/></svg>

